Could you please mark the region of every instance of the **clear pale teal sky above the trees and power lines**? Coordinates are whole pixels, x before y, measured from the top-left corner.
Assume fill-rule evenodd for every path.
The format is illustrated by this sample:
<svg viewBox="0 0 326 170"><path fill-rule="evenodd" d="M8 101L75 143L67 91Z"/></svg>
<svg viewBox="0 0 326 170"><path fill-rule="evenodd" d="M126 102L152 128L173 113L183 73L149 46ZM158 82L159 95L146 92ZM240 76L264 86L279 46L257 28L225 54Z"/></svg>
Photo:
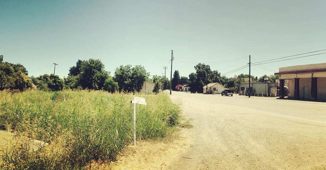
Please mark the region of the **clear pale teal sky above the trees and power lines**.
<svg viewBox="0 0 326 170"><path fill-rule="evenodd" d="M29 75L67 76L78 59L101 59L113 75L120 65L143 65L152 75L188 76L194 65L251 55L258 61L326 49L326 1L16 1L0 0L0 54ZM325 52L325 51L324 51ZM253 60L252 62L255 62ZM326 62L326 54L266 64ZM211 64L225 73L248 63ZM50 67L52 68L50 69ZM266 67L261 66L267 69ZM252 66L251 74L272 74ZM248 73L244 69L227 76Z"/></svg>

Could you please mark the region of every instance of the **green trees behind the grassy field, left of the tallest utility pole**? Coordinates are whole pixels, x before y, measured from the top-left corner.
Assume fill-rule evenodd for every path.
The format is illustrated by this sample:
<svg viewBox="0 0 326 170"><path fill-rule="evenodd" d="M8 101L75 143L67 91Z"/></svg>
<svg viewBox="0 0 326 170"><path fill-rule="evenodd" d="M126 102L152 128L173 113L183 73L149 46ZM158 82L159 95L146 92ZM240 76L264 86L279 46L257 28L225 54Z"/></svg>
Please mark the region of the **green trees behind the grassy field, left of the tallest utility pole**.
<svg viewBox="0 0 326 170"><path fill-rule="evenodd" d="M28 77L28 72L22 64L3 62L0 57L0 90L32 88L39 90L59 91L63 89L92 89L106 90L109 92L135 92L142 88L144 81L155 84L154 92L170 88L170 81L166 77L154 75L141 65L119 66L115 69L114 76L105 71L104 64L99 59L78 60L75 66L70 67L67 77L63 79L58 75L44 74L38 77ZM159 84L159 85L158 85Z"/></svg>

